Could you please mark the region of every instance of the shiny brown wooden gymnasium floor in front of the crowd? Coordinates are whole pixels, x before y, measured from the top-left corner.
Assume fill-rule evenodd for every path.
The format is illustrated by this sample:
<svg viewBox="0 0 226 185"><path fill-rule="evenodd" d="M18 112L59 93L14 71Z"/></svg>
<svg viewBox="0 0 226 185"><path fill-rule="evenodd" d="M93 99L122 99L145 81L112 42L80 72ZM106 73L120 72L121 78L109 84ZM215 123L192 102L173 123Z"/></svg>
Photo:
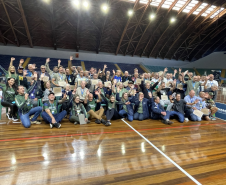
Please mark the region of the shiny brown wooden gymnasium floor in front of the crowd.
<svg viewBox="0 0 226 185"><path fill-rule="evenodd" d="M1 185L226 184L226 122L222 120L175 121L171 126L153 120L128 122L146 141L121 120L112 121L110 127L64 120L61 129L44 123L25 129L3 118Z"/></svg>

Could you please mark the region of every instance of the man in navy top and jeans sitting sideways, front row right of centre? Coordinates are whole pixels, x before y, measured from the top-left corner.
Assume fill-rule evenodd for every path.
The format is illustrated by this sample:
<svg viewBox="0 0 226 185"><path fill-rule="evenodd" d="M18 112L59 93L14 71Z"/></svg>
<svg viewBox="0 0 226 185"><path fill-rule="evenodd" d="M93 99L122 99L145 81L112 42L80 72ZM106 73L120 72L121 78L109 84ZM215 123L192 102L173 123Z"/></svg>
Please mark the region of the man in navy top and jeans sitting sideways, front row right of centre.
<svg viewBox="0 0 226 185"><path fill-rule="evenodd" d="M171 125L173 122L169 120L171 116L171 111L165 111L160 105L160 98L154 97L154 103L151 106L151 118L152 119L162 119L162 122L166 125Z"/></svg>

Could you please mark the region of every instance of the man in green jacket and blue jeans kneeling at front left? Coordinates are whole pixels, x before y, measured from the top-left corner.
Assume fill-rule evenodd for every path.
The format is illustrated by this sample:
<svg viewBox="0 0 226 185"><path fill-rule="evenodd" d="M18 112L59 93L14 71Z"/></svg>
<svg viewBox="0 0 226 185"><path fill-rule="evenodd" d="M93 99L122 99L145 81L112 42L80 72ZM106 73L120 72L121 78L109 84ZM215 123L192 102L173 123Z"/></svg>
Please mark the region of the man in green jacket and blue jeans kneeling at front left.
<svg viewBox="0 0 226 185"><path fill-rule="evenodd" d="M33 86L28 89L28 93L32 90ZM31 99L29 99L29 94L25 94L25 89L23 86L18 86L18 95L15 97L16 105L19 109L20 120L25 128L29 128L31 124L41 124L37 121L38 116L42 112L42 107L33 108ZM30 116L33 118L30 121Z"/></svg>

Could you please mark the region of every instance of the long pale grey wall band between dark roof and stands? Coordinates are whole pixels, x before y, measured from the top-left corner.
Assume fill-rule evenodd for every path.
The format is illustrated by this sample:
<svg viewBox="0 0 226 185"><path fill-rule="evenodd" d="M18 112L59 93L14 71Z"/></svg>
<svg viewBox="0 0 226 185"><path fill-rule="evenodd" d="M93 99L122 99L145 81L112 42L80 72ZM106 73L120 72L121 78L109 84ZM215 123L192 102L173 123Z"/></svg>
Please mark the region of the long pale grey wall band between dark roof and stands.
<svg viewBox="0 0 226 185"><path fill-rule="evenodd" d="M0 45L1 55L19 55L28 57L49 57L49 58L61 58L69 59L69 56L75 56L76 51L72 50L53 50L50 48L28 48L28 47L16 47L16 46L2 46ZM114 63L129 63L129 64L140 64L152 65L152 66L166 66L166 67L176 67L188 64L189 62L176 61L176 60L163 60L147 57L138 56L122 56L114 55L110 53L100 53L95 54L94 52L79 52L78 60L88 60L88 61L98 61L98 62L114 62Z"/></svg>

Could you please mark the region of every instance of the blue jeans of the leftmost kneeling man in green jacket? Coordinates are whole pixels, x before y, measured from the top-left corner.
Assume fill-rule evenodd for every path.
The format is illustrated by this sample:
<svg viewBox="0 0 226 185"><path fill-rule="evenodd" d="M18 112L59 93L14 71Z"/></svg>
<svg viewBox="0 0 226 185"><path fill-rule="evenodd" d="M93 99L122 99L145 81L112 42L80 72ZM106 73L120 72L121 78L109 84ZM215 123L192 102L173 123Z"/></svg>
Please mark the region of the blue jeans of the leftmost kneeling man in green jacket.
<svg viewBox="0 0 226 185"><path fill-rule="evenodd" d="M42 112L42 107L32 108L27 114L22 114L19 112L20 120L25 128L29 128L31 126L30 116L34 115L31 121L36 121L40 113Z"/></svg>

